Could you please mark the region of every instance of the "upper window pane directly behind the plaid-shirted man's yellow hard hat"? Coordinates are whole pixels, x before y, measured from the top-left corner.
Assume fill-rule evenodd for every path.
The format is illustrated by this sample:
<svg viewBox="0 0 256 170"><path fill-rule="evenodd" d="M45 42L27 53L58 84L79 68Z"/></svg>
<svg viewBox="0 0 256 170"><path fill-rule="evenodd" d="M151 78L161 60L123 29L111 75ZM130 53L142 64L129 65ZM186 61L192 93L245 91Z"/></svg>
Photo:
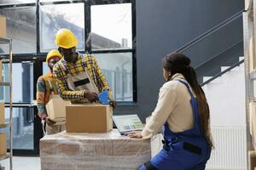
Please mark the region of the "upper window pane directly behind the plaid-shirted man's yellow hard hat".
<svg viewBox="0 0 256 170"><path fill-rule="evenodd" d="M84 50L84 3L40 6L41 52L57 48L55 34L61 28L73 31L79 40L77 48Z"/></svg>

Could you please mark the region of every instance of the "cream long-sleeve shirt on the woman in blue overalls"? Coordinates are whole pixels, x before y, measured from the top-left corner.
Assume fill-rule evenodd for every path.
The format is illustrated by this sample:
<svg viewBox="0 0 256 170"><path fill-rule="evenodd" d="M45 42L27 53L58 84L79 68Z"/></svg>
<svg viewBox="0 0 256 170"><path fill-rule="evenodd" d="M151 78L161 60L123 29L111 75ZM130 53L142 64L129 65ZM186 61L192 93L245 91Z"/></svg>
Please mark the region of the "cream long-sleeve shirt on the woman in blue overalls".
<svg viewBox="0 0 256 170"><path fill-rule="evenodd" d="M194 118L189 90L182 82L175 81L177 78L185 81L182 74L175 74L172 77L172 81L166 82L160 88L157 105L143 128L143 139L149 139L158 133L165 122L175 133L183 132L193 127ZM195 94L193 95L195 96Z"/></svg>

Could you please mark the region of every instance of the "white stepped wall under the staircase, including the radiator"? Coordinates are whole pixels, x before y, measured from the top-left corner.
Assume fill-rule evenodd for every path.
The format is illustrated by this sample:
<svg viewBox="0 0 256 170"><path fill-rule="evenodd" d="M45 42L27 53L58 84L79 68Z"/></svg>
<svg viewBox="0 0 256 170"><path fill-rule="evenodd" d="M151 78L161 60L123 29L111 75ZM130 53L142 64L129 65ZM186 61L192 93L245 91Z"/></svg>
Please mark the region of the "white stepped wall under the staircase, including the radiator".
<svg viewBox="0 0 256 170"><path fill-rule="evenodd" d="M243 60L243 57L239 58ZM215 149L207 169L247 169L245 70L244 64L226 71L202 86L210 106L212 139ZM207 82L212 77L203 77Z"/></svg>

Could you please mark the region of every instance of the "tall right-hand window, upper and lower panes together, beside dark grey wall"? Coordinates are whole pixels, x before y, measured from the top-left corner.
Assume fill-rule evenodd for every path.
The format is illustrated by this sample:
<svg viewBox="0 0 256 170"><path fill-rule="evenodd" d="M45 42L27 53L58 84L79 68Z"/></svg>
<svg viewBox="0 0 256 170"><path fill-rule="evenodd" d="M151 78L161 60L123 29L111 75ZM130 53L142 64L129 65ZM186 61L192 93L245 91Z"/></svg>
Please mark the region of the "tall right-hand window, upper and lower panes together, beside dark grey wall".
<svg viewBox="0 0 256 170"><path fill-rule="evenodd" d="M96 4L90 7L91 51L117 101L134 101L132 4Z"/></svg>

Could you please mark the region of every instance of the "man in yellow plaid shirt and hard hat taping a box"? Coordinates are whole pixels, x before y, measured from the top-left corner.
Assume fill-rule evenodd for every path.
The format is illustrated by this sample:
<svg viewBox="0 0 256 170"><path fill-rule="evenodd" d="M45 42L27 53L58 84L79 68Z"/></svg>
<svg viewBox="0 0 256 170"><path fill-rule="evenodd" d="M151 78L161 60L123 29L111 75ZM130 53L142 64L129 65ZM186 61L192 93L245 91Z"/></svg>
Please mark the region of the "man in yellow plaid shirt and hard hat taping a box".
<svg viewBox="0 0 256 170"><path fill-rule="evenodd" d="M78 40L73 32L65 28L59 30L55 36L55 44L63 55L53 69L61 98L73 103L92 103L98 100L99 93L109 90L110 105L115 108L116 103L112 100L108 82L97 65L96 58L76 52Z"/></svg>

